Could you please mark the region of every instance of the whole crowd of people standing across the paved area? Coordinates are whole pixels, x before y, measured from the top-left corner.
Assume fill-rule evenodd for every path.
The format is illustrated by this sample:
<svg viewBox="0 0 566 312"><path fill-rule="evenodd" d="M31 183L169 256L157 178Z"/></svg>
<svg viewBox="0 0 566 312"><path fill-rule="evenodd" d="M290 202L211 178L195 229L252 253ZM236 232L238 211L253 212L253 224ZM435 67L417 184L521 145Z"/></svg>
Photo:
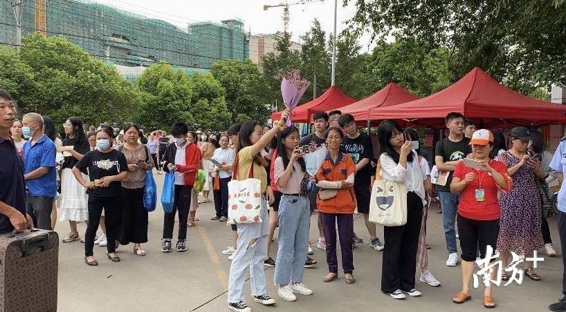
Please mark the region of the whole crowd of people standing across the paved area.
<svg viewBox="0 0 566 312"><path fill-rule="evenodd" d="M339 110L315 113L313 132L301 137L298 128L286 125L290 114L285 110L273 126L245 121L225 133L192 132L182 121L172 125L168 136L164 130L146 136L140 126L131 123L121 129L101 124L86 131L79 117L69 117L59 129L51 118L37 113L26 113L17 120L12 97L0 90L0 153L5 159L0 164L0 232L32 226L53 230L58 219L69 222L69 234L62 242L82 240L84 262L89 266L98 265L95 244L106 246L112 262L120 262L116 254L120 245L133 244L134 253L145 256L142 244L148 242L148 211L144 188L147 171L155 170L174 176L173 208L164 213L161 251L173 249L177 218L174 250L183 252L187 251L188 227L199 221L199 204L214 201L211 220L230 221L229 182L252 177L260 182L257 217L263 221L232 224L232 245L222 251L232 260L228 308L244 312L251 311L244 298L248 269L255 302L275 304L268 295L264 266L275 266L273 283L283 300L292 302L296 295L313 294L303 283L304 269L317 265L309 257L313 216L318 237L312 244L326 253L328 273L323 282L338 278L337 242L344 282L355 282L353 250L363 240L354 232L354 215L361 214L369 246L383 251L383 293L397 300L420 296L417 266L420 282L440 286L428 266L426 244L428 207L435 193L446 238L446 266L462 263L462 289L454 303L471 299L474 267L486 257L489 246L497 249L504 265L511 252L531 257L533 251L545 248L547 255L556 255L546 220L554 211L541 193L548 190L548 175L563 177L566 140L553 156L536 130L515 127L505 139L502 133L476 129L460 113L450 113L446 116L448 133L435 146L435 168L431 170L422 144L415 145L419 133L414 128L381 122L374 155L372 137L360 133L352 115ZM60 130L64 131L62 139L57 134ZM309 146L311 151L326 148L316 174L307 173L300 146ZM477 168L466 165L464 159L475 162ZM193 187L199 169L206 173L201 194ZM384 226L381 238L376 224L369 221L376 179L404 184L407 192L406 223ZM560 239L566 243L564 190L560 190L557 214ZM86 224L84 239L77 230L80 222ZM97 236L99 227L102 234ZM270 255L275 231L277 254ZM531 262L524 263L527 278L542 279ZM492 273L509 280L506 271ZM566 273L563 288L566 295ZM491 284L484 290L483 305L497 305ZM550 309L566 311L566 297Z"/></svg>

